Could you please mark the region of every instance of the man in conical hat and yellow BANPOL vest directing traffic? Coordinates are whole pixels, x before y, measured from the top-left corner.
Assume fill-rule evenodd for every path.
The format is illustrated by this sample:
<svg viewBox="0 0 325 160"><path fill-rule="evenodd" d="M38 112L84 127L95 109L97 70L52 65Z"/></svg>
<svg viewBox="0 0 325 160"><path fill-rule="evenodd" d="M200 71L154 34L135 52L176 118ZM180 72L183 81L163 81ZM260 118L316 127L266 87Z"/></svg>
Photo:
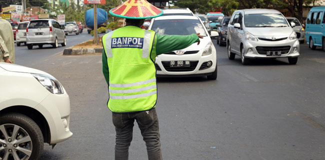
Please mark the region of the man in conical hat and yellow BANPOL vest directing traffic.
<svg viewBox="0 0 325 160"><path fill-rule="evenodd" d="M146 144L149 160L160 160L160 134L155 111L157 88L154 59L157 55L199 43L199 33L160 35L141 29L145 18L161 15L146 0L127 0L109 10L126 18L126 25L102 37L102 71L108 84L108 108L115 126L115 159L128 159L134 119Z"/></svg>

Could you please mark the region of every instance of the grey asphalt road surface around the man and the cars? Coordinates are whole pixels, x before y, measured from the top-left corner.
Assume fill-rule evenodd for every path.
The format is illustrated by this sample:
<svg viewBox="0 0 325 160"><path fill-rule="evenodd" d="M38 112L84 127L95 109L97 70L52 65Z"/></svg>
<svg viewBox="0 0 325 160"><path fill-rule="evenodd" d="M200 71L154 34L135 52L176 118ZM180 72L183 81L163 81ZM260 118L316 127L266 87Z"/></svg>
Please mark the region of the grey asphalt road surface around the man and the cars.
<svg viewBox="0 0 325 160"><path fill-rule="evenodd" d="M67 36L67 46L89 38ZM40 159L113 159L101 56L63 56L62 49L16 47L17 64L52 74L70 96L73 136L54 149L45 145ZM217 80L158 78L163 158L324 159L324 52L302 44L296 65L286 58L242 65L238 56L227 58L224 46L216 49ZM136 124L129 159L147 159Z"/></svg>

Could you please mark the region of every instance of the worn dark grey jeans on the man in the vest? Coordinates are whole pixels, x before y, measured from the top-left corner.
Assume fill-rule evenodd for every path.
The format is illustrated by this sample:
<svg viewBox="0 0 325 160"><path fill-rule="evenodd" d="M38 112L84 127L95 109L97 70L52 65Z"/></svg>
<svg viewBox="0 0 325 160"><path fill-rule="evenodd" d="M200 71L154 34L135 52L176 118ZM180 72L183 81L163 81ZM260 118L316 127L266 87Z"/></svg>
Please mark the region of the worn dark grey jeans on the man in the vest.
<svg viewBox="0 0 325 160"><path fill-rule="evenodd" d="M158 116L155 108L132 113L112 113L113 124L116 131L115 160L128 159L128 147L132 141L134 119L136 120L149 160L161 160L160 134Z"/></svg>

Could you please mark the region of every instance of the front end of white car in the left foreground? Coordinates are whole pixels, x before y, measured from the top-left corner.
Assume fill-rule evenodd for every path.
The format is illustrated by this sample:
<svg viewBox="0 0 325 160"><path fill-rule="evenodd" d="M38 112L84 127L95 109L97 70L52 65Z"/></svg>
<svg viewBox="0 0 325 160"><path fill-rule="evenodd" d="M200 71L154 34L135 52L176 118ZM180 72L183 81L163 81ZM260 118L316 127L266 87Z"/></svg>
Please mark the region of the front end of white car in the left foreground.
<svg viewBox="0 0 325 160"><path fill-rule="evenodd" d="M50 74L0 62L0 159L38 159L72 135L70 102Z"/></svg>

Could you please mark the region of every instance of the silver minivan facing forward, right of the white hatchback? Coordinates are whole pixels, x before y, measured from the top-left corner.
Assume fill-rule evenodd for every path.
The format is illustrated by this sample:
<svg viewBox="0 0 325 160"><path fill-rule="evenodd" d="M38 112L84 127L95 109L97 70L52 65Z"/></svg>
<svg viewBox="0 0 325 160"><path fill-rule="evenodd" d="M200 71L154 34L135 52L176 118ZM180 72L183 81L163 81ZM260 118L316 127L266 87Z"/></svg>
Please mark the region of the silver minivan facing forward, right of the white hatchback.
<svg viewBox="0 0 325 160"><path fill-rule="evenodd" d="M274 9L234 11L228 24L228 58L237 54L242 64L248 64L249 58L287 57L290 64L296 64L299 40L291 26Z"/></svg>

